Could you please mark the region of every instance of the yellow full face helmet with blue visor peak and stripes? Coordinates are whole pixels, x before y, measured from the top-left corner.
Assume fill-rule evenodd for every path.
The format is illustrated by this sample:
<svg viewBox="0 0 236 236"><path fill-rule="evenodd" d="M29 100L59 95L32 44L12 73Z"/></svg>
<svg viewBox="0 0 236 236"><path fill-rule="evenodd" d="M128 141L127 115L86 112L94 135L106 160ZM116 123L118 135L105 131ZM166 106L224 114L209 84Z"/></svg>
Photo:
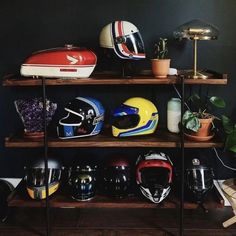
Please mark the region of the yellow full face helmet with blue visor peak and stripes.
<svg viewBox="0 0 236 236"><path fill-rule="evenodd" d="M112 134L127 137L152 134L158 124L158 111L149 100L133 97L117 107L112 114Z"/></svg>

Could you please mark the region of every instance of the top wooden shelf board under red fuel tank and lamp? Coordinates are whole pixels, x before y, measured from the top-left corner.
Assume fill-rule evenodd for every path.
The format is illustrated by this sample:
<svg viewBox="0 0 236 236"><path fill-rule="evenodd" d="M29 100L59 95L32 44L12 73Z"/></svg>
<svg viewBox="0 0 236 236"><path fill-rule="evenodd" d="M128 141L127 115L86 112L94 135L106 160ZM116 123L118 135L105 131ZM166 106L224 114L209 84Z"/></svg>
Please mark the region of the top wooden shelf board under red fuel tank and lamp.
<svg viewBox="0 0 236 236"><path fill-rule="evenodd" d="M209 79L185 79L185 84L208 84L208 85L226 85L227 74L217 74ZM164 79L157 79L153 76L133 76L133 77L120 77L117 75L94 75L91 78L82 79L59 79L48 78L45 84L49 86L60 85L132 85L132 84L180 84L181 79L178 76L168 76ZM13 74L6 75L3 78L3 86L40 86L42 85L41 79L26 78L16 76Z"/></svg>

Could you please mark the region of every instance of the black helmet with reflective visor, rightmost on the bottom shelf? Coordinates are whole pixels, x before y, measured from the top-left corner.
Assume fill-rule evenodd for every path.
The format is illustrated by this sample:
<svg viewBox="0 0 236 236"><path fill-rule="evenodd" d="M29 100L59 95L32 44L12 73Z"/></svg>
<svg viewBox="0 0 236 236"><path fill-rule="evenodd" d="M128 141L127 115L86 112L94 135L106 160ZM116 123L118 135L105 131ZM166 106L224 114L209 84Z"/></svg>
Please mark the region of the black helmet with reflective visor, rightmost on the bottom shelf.
<svg viewBox="0 0 236 236"><path fill-rule="evenodd" d="M214 173L212 168L193 158L186 168L186 185L198 203L204 200L206 194L213 187Z"/></svg>

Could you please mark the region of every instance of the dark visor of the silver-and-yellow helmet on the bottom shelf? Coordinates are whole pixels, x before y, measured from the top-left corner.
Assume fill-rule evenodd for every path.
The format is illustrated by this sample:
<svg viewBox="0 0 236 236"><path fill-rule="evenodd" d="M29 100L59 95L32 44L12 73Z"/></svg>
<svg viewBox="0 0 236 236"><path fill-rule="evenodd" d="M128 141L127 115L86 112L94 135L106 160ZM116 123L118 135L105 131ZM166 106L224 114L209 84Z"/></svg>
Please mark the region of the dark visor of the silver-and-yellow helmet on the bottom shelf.
<svg viewBox="0 0 236 236"><path fill-rule="evenodd" d="M48 184L57 182L60 180L61 170L60 169L49 169L48 170ZM45 169L44 168L30 168L26 174L27 186L42 187L46 185L45 181Z"/></svg>

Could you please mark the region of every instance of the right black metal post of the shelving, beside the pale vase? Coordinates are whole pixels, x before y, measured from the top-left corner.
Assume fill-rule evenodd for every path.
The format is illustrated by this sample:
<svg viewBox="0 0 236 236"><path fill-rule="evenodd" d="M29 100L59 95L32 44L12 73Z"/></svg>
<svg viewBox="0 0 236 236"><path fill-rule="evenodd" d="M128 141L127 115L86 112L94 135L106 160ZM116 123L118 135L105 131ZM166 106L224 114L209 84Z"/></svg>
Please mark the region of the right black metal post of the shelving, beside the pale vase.
<svg viewBox="0 0 236 236"><path fill-rule="evenodd" d="M185 91L184 91L184 76L181 76L181 124L184 114L184 101L185 101ZM181 196L180 196L180 236L184 235L184 128L181 125Z"/></svg>

